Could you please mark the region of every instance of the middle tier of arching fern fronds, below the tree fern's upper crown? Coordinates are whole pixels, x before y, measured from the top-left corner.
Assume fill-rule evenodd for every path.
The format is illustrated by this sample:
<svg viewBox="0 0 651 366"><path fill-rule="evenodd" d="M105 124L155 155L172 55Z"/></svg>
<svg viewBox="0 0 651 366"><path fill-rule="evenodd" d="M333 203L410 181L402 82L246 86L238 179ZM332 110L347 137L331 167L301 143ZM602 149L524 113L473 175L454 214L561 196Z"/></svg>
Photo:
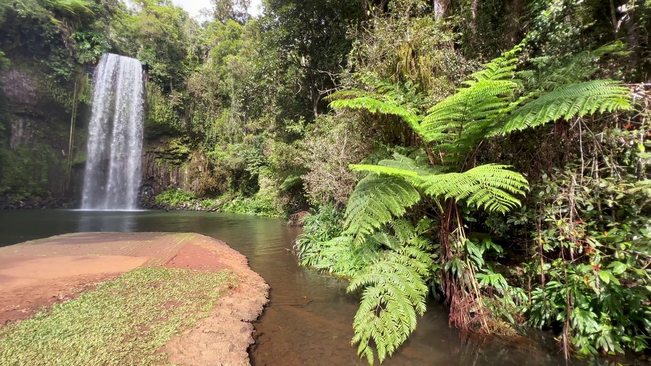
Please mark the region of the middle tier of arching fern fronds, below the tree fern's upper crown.
<svg viewBox="0 0 651 366"><path fill-rule="evenodd" d="M405 166L406 158L401 163ZM353 171L370 173L359 182L348 200L346 225L353 235L369 234L417 203L419 191L434 199L475 204L491 212L519 206L527 180L506 165L480 165L464 173L428 173L426 169L400 169L384 165L351 165ZM408 166L408 165L407 165Z"/></svg>

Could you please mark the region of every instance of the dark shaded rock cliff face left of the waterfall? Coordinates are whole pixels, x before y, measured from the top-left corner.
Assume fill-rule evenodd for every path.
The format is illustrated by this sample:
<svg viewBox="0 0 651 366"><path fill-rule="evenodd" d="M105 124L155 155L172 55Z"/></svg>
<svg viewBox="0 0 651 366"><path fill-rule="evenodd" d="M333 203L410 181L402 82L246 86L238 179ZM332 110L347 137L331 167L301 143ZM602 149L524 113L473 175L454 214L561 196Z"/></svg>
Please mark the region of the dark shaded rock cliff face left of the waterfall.
<svg viewBox="0 0 651 366"><path fill-rule="evenodd" d="M71 113L48 96L35 70L13 68L0 73L0 193L73 201L79 190L79 169L68 173ZM77 121L87 108L79 109ZM85 139L85 123L77 124L76 143ZM72 151L75 154L76 150ZM8 195L7 195L8 194Z"/></svg>

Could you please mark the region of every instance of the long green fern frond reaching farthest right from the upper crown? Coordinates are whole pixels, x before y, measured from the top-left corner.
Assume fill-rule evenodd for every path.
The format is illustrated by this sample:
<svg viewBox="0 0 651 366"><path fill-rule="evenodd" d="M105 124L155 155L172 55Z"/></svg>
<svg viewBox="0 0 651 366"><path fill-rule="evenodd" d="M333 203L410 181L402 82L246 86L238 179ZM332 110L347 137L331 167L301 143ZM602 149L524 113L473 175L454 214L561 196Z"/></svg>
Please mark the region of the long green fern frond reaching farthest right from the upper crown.
<svg viewBox="0 0 651 366"><path fill-rule="evenodd" d="M563 85L519 107L488 135L508 134L559 119L630 109L630 91L618 86L616 81L593 80Z"/></svg>

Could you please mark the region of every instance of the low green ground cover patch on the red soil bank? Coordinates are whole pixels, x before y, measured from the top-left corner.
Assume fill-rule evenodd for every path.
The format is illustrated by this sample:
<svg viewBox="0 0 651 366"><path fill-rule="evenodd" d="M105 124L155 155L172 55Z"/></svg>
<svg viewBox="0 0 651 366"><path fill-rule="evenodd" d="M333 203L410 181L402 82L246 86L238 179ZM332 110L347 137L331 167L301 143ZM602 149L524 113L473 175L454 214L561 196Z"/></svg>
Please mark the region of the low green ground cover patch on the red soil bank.
<svg viewBox="0 0 651 366"><path fill-rule="evenodd" d="M132 270L0 329L0 365L164 365L156 351L235 286L229 270Z"/></svg>

